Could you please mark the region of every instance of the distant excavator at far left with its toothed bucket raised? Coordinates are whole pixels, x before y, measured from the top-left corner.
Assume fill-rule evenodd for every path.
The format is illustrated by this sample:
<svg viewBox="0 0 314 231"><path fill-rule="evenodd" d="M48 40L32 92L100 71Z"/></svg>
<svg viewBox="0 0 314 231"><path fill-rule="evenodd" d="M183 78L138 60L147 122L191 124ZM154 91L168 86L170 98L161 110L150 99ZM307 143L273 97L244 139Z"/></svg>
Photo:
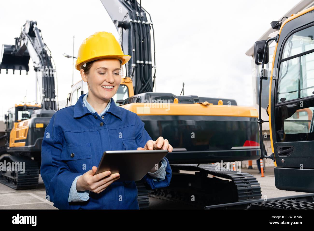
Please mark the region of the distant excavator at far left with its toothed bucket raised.
<svg viewBox="0 0 314 231"><path fill-rule="evenodd" d="M0 183L15 190L33 189L38 185L41 165L41 141L45 127L53 114L57 111L55 95L55 73L51 52L44 43L41 30L36 21L27 20L14 45L2 46L0 63L1 69L17 70L19 74L28 74L30 58L34 64L36 100L35 104L28 104L26 97L24 104L15 104L5 114L6 130L2 139L5 145L0 147L0 163L2 166L14 166L23 163L23 169L5 168L0 171ZM38 76L42 82L41 104L37 102Z"/></svg>

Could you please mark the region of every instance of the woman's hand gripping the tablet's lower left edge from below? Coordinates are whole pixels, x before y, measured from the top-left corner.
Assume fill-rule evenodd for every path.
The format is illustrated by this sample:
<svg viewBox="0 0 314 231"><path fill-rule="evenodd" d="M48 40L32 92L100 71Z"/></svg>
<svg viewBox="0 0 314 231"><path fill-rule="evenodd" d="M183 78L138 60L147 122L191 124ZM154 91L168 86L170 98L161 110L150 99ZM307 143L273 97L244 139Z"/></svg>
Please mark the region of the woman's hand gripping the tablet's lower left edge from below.
<svg viewBox="0 0 314 231"><path fill-rule="evenodd" d="M95 175L97 167L94 166L91 170L80 176L76 182L77 191L89 190L94 193L101 193L111 183L120 178L119 173L111 174L110 171L98 173Z"/></svg>

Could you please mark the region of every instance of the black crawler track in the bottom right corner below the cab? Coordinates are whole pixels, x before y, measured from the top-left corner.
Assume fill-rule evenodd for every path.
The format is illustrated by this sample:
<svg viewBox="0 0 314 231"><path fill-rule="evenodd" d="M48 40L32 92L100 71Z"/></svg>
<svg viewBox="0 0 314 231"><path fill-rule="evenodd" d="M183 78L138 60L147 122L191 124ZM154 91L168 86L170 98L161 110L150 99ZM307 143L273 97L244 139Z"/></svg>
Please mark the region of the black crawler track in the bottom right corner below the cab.
<svg viewBox="0 0 314 231"><path fill-rule="evenodd" d="M297 201L293 199L263 201L252 203L247 209L314 209L314 202Z"/></svg>

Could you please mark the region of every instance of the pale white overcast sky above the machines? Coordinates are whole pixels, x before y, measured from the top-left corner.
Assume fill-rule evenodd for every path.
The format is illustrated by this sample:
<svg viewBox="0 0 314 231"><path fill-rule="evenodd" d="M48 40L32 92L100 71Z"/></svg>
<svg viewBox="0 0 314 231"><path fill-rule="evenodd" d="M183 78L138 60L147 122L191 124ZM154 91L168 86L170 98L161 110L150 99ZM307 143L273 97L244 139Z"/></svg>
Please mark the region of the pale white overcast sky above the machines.
<svg viewBox="0 0 314 231"><path fill-rule="evenodd" d="M289 11L297 0L175 1L142 0L155 30L157 92L235 99L251 106L251 57L245 52L270 28L270 22ZM258 10L258 11L257 11ZM261 14L263 12L263 15ZM296 12L297 13L297 12ZM0 45L14 44L26 20L36 20L52 52L58 76L59 100L72 85L72 55L96 31L117 31L99 0L2 1ZM1 60L0 60L1 62ZM35 71L0 74L0 119L15 103L35 101ZM81 79L74 70L74 83ZM56 89L57 91L57 89ZM39 103L41 100L39 99Z"/></svg>

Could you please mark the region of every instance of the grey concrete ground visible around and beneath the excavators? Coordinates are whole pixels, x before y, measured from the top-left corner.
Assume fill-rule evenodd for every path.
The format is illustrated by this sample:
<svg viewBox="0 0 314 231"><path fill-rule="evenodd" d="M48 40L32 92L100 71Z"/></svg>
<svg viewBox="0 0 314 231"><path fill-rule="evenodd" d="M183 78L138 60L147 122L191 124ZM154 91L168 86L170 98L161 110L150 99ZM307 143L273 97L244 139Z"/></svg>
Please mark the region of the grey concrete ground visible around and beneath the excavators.
<svg viewBox="0 0 314 231"><path fill-rule="evenodd" d="M257 169L243 169L243 172L253 174L262 187L262 198L267 196L268 199L273 197L282 197L290 195L307 194L303 192L291 192L279 190L275 187L274 167L267 167L261 177ZM53 203L45 199L46 191L44 183L39 177L37 189L32 190L13 190L8 186L0 184L0 209L57 209ZM164 201L155 198L149 198L150 209L190 209L180 203Z"/></svg>

